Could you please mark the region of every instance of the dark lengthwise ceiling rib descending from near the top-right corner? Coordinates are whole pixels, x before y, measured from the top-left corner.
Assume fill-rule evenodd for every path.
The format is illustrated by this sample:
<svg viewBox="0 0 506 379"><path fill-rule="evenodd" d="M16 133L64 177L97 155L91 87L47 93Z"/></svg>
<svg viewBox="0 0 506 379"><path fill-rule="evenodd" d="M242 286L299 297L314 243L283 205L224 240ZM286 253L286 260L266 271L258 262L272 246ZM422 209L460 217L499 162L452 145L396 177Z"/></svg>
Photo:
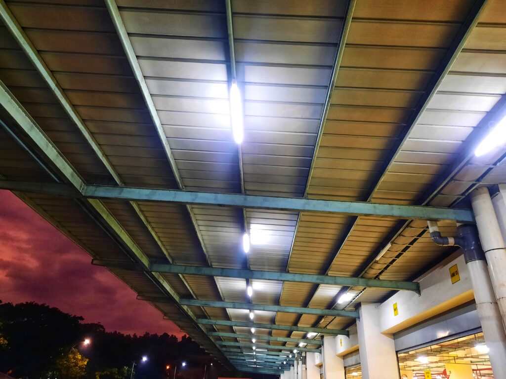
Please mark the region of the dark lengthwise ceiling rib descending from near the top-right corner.
<svg viewBox="0 0 506 379"><path fill-rule="evenodd" d="M487 2L487 0L477 0L475 2L475 4L473 5L468 17L462 23L462 26L459 29L457 36L454 38L451 46L448 48L447 53L445 54L445 56L443 58L443 62L439 65L438 70L436 71L435 75L433 76L433 79L431 80L431 82L428 86L428 89L426 89L426 91L425 91L425 93L427 93L427 96L422 97L418 101L418 105L415 107L416 111L411 114L411 116L409 117L409 120L406 122L407 128L403 129L403 131L402 131L403 135L398 138L398 139L400 139L400 141L397 146L397 149L395 151L392 151L392 153L389 155L389 157L387 158L388 164L386 166L384 166L384 168L382 170L379 171L379 173L380 173L379 177L377 177L377 179L374 180L374 182L375 182L374 186L371 189L369 189L368 196L367 196L367 202L370 202L371 197L373 196L373 194L376 191L376 189L378 188L378 186L381 184L388 169L391 167L391 165L395 161L395 158L400 153L401 148L404 145L407 138L409 137L411 130L414 128L414 126L418 122L418 119L420 118L421 114L427 108L429 102L431 101L432 97L436 93L436 91L439 88L444 77L450 71L451 65L453 64L456 57L458 56L458 54L462 50L463 45L466 43L472 30L474 29L474 27L478 23L479 15L483 11L484 5L486 2ZM347 228L346 237L343 239L343 242L341 244L339 244L338 248L336 249L336 252L333 256L332 261L327 266L327 271L330 269L333 261L339 255L339 252L346 244L347 238L350 235L350 233L352 232L353 227L355 226L357 221L358 221L358 217L355 217L354 220L350 223L350 226ZM336 295L336 297L339 296L341 293L344 293L344 290L345 289L342 289L340 291L340 293L338 293L338 295ZM315 294L316 294L316 292L313 293L313 296L311 298L313 298ZM336 299L334 299L334 301L333 301L332 308L335 307L335 305L336 305L335 300Z"/></svg>

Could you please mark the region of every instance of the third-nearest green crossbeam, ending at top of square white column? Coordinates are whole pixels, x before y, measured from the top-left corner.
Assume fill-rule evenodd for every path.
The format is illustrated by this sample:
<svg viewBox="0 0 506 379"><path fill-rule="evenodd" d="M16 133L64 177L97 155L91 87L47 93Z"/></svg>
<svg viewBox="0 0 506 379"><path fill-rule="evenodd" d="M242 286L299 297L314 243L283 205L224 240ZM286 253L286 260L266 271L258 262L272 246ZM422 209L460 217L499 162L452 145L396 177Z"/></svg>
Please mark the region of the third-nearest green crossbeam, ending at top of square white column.
<svg viewBox="0 0 506 379"><path fill-rule="evenodd" d="M150 300L149 296L139 296L140 300ZM229 309L247 309L253 311L267 311L267 312L286 312L286 313L302 313L302 314L316 314L320 316L334 316L334 317L352 317L359 318L356 311L344 311L340 309L319 309L319 308L303 308L303 307L285 307L280 305L265 305L265 304L250 304L238 303L232 301L212 301L212 300L195 300L195 299L180 299L180 304L196 307L215 307L215 308L229 308Z"/></svg>

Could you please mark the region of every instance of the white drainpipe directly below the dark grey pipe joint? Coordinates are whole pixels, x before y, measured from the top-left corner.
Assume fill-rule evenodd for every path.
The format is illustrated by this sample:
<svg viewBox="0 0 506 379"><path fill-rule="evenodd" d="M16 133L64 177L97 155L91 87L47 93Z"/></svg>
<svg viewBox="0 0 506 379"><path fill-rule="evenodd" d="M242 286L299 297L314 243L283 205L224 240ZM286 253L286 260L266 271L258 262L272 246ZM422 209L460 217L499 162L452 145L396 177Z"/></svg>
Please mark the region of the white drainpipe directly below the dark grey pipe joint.
<svg viewBox="0 0 506 379"><path fill-rule="evenodd" d="M475 260L468 262L467 266L494 377L506 378L506 333L488 275L487 262Z"/></svg>

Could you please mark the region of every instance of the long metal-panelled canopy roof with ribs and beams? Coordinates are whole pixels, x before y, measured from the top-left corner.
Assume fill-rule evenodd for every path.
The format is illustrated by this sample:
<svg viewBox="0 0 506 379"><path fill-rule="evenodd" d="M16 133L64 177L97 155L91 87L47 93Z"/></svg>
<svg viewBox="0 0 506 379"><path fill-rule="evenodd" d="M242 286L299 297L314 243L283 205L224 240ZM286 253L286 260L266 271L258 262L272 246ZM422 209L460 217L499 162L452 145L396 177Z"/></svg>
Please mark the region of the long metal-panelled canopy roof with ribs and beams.
<svg viewBox="0 0 506 379"><path fill-rule="evenodd" d="M506 180L506 150L473 154L506 114L500 0L0 0L0 13L0 187L229 367L278 372L299 342L346 333L358 302L447 254L431 207L452 233L448 208ZM153 189L208 198L152 202ZM223 203L239 194L278 203ZM429 213L287 206L310 200Z"/></svg>

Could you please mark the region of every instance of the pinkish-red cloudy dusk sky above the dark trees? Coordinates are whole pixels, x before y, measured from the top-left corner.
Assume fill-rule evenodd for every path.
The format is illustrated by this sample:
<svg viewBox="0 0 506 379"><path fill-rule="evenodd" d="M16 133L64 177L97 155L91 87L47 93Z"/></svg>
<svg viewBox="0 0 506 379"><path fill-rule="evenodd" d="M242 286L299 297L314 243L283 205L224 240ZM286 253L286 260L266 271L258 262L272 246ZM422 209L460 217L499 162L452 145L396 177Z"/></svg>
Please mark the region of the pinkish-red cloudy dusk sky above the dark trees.
<svg viewBox="0 0 506 379"><path fill-rule="evenodd" d="M0 300L35 301L124 334L168 333L172 321L9 191L0 190Z"/></svg>

